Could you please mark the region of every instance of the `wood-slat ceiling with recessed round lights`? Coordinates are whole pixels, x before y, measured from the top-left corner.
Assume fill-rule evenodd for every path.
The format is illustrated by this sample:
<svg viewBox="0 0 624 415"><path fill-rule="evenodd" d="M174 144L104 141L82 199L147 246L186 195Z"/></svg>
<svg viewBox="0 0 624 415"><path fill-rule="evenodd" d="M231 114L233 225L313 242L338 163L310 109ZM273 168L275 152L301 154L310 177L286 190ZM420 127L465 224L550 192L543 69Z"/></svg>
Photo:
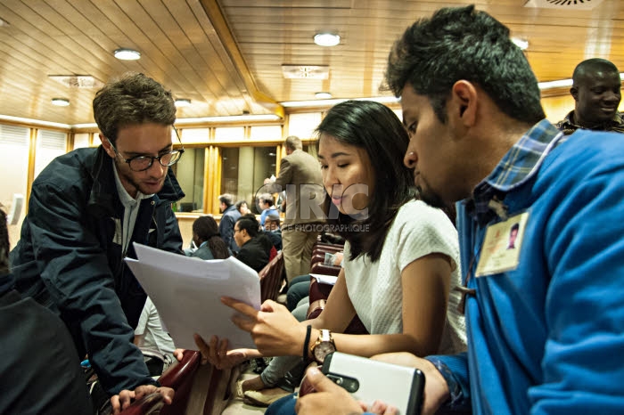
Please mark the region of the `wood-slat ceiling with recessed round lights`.
<svg viewBox="0 0 624 415"><path fill-rule="evenodd" d="M534 3L555 0L531 0ZM281 102L379 96L390 46L419 17L443 6L476 4L530 42L540 81L571 77L574 66L603 57L624 70L624 2L571 0L557 8L526 0L2 0L0 115L76 125L93 123L96 89L62 85L50 75L101 82L144 72L192 101L178 118L274 113ZM568 4L570 3L570 4ZM574 3L596 4L576 10ZM314 45L318 31L341 45ZM139 61L119 61L125 47ZM326 80L284 79L283 64L329 65ZM387 94L387 93L386 93ZM54 107L53 97L70 100Z"/></svg>

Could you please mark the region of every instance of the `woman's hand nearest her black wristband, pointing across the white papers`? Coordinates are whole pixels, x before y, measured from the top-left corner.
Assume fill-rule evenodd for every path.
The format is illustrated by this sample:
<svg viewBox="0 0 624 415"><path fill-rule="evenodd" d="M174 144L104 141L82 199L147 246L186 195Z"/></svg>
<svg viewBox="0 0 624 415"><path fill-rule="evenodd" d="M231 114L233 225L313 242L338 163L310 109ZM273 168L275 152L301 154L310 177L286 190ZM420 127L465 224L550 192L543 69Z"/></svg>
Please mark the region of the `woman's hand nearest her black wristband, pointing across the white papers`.
<svg viewBox="0 0 624 415"><path fill-rule="evenodd" d="M234 315L232 321L241 330L251 334L263 356L301 354L306 328L283 305L267 300L258 311L230 297L222 297L221 302L240 313Z"/></svg>

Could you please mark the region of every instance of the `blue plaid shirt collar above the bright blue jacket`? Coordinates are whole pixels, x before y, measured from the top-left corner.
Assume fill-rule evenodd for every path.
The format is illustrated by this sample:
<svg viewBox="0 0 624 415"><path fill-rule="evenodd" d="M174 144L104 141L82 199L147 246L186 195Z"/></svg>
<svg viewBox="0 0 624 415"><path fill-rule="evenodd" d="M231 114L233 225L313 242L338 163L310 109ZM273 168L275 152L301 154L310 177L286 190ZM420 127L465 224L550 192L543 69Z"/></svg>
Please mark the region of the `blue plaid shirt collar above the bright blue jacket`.
<svg viewBox="0 0 624 415"><path fill-rule="evenodd" d="M536 175L546 155L562 137L562 132L546 119L532 126L507 151L492 173L477 184L472 198L464 200L466 212L480 224L487 224L496 216L505 219L506 207L502 203L505 194Z"/></svg>

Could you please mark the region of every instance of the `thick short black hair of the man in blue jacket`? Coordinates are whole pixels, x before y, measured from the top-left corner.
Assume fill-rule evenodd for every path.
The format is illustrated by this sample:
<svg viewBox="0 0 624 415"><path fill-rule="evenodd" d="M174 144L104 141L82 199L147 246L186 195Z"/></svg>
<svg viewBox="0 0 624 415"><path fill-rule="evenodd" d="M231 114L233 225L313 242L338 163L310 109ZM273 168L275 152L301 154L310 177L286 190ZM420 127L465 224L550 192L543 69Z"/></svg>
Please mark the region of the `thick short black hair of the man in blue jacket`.
<svg viewBox="0 0 624 415"><path fill-rule="evenodd" d="M390 52L385 86L400 96L412 85L446 123L447 99L462 79L483 88L511 118L530 124L546 118L538 80L509 28L474 5L440 9L407 28Z"/></svg>

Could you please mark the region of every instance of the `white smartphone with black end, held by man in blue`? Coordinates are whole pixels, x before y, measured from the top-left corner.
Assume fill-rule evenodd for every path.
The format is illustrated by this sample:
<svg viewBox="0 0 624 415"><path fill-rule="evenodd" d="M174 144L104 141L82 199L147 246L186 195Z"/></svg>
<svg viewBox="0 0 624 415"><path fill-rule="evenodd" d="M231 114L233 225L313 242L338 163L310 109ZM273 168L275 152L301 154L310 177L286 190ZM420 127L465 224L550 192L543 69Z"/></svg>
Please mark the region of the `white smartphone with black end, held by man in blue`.
<svg viewBox="0 0 624 415"><path fill-rule="evenodd" d="M395 406L398 415L417 415L423 406L424 374L398 364L334 352L325 356L323 373L368 405L376 400Z"/></svg>

